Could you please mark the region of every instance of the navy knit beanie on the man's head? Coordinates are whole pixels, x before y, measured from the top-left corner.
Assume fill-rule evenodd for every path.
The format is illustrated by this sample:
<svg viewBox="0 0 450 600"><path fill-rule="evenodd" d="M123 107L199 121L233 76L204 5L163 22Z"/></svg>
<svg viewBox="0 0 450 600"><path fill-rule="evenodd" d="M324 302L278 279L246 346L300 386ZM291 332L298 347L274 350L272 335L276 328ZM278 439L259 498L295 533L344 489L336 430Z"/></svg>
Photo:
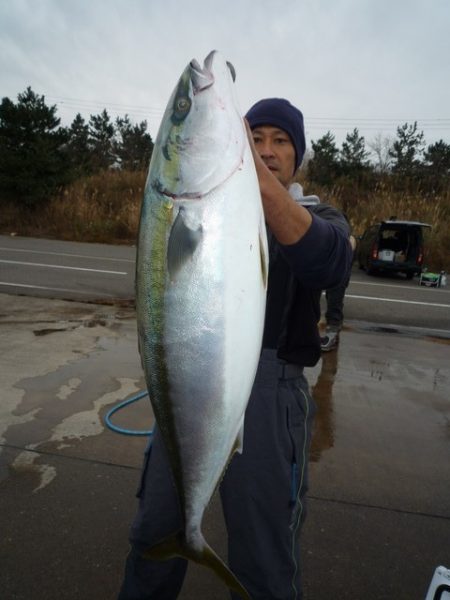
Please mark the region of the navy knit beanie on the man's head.
<svg viewBox="0 0 450 600"><path fill-rule="evenodd" d="M259 125L272 125L285 131L295 148L295 170L301 165L305 154L305 128L303 115L284 98L266 98L254 104L245 118L250 129Z"/></svg>

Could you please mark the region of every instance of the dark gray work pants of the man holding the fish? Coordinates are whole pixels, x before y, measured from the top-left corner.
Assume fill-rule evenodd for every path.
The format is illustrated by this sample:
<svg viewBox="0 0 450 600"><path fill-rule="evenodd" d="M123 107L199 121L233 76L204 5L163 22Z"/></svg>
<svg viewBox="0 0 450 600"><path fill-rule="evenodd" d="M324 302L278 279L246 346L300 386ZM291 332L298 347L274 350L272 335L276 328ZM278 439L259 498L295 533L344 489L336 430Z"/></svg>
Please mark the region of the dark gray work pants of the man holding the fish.
<svg viewBox="0 0 450 600"><path fill-rule="evenodd" d="M302 597L299 534L314 413L302 370L263 351L246 412L244 452L234 456L220 486L229 566L253 600ZM146 457L139 496L119 600L174 600L186 561L149 561L139 554L181 523L158 433Z"/></svg>

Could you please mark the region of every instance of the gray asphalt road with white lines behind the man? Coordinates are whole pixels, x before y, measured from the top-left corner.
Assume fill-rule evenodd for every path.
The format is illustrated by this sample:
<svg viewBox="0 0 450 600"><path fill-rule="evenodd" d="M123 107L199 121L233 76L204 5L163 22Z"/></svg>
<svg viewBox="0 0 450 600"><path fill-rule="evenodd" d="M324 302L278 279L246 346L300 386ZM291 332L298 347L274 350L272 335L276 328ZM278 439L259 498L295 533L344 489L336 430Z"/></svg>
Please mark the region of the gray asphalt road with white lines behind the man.
<svg viewBox="0 0 450 600"><path fill-rule="evenodd" d="M136 249L0 236L0 292L70 300L134 298ZM354 267L346 320L375 327L414 327L450 334L450 287L418 279L369 276Z"/></svg>

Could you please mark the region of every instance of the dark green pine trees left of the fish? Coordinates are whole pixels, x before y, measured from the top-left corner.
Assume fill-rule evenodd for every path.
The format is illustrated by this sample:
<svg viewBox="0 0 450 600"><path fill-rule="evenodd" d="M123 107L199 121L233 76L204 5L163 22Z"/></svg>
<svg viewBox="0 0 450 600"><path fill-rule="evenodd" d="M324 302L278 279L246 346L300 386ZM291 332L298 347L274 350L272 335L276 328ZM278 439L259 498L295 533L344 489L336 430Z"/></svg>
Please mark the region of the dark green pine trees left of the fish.
<svg viewBox="0 0 450 600"><path fill-rule="evenodd" d="M35 207L57 189L108 169L142 170L153 150L147 122L111 120L103 110L88 122L77 114L61 125L57 107L28 87L0 105L0 201Z"/></svg>

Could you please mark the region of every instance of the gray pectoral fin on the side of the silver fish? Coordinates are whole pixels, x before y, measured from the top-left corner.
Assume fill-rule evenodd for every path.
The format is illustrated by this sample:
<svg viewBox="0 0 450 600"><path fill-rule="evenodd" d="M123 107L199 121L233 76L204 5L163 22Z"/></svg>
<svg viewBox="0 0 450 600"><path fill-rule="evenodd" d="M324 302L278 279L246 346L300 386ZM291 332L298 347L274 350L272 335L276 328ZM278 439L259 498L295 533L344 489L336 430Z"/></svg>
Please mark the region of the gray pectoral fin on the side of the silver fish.
<svg viewBox="0 0 450 600"><path fill-rule="evenodd" d="M191 229L186 225L184 209L180 208L172 225L167 245L167 268L174 277L186 261L192 257L203 237L202 227Z"/></svg>

